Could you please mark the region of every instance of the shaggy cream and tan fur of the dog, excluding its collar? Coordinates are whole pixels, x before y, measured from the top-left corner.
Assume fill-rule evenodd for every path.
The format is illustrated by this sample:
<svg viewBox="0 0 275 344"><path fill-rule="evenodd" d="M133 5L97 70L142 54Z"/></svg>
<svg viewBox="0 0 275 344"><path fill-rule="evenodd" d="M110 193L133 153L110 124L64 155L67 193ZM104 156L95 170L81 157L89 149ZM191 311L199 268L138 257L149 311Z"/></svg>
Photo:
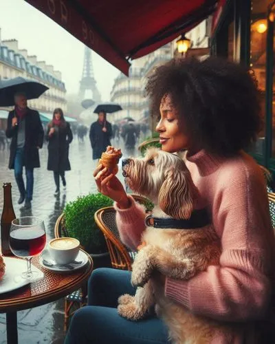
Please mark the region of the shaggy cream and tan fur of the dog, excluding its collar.
<svg viewBox="0 0 275 344"><path fill-rule="evenodd" d="M145 158L129 159L123 173L133 191L154 202L155 217L188 219L199 200L190 172L177 155L148 149ZM173 343L210 343L215 331L226 332L230 343L230 327L196 316L168 299L155 273L188 280L209 265L219 264L221 250L212 226L190 230L147 227L142 241L145 246L135 257L131 277L137 292L135 296L124 294L118 299L118 313L138 320L155 304Z"/></svg>

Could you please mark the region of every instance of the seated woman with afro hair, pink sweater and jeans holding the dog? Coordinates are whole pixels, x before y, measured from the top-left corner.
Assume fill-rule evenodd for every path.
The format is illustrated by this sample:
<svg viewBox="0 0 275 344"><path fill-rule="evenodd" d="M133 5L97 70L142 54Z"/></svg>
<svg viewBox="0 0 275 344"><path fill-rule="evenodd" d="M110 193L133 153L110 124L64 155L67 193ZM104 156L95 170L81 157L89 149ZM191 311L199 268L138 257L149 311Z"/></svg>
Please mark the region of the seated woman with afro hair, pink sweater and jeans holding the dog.
<svg viewBox="0 0 275 344"><path fill-rule="evenodd" d="M274 343L266 321L272 319L274 302L274 234L263 174L243 151L261 128L254 81L229 61L174 59L155 70L146 91L153 114L159 115L156 131L162 149L187 149L186 166L222 248L219 266L188 281L157 271L153 278L171 301L190 312L238 322L231 343ZM137 249L144 209L107 169L98 166L94 176L98 190L115 201L122 241ZM89 279L89 306L74 314L65 343L168 343L161 319L132 322L118 315L118 297L135 291L130 280L128 271L96 269ZM228 341L225 334L215 333L212 343Z"/></svg>

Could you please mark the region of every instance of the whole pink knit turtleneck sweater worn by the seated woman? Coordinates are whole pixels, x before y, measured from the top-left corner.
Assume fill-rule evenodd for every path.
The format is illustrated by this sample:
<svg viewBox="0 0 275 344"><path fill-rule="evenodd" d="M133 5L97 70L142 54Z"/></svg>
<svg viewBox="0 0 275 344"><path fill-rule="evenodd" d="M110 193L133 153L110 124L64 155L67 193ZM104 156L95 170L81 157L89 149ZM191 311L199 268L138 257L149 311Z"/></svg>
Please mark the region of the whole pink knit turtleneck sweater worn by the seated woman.
<svg viewBox="0 0 275 344"><path fill-rule="evenodd" d="M192 180L206 200L221 239L219 266L209 266L188 281L166 278L166 296L195 314L221 321L251 321L270 317L274 290L275 239L270 222L263 173L245 153L213 158L206 151L188 156ZM144 230L144 210L129 196L131 206L117 210L124 244L136 249ZM259 343L256 326L240 329L234 343ZM215 343L227 343L223 334Z"/></svg>

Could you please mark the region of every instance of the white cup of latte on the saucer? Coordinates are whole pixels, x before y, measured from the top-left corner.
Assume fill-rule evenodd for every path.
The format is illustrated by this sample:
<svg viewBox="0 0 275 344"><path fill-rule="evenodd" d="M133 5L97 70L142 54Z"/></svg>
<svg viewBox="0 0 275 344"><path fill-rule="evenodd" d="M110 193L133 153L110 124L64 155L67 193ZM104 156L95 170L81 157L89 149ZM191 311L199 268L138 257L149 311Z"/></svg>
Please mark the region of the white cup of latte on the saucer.
<svg viewBox="0 0 275 344"><path fill-rule="evenodd" d="M76 259L80 242L73 237L59 237L49 242L48 250L56 264L69 264Z"/></svg>

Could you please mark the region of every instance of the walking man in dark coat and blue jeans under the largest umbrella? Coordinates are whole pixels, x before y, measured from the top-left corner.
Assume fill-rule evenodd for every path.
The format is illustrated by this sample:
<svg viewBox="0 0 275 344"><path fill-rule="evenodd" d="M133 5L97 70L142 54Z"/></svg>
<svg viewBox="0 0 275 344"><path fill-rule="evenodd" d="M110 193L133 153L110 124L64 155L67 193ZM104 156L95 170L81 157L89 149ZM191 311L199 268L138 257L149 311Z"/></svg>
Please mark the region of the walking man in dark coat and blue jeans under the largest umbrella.
<svg viewBox="0 0 275 344"><path fill-rule="evenodd" d="M8 114L8 126L5 131L10 143L9 169L14 169L15 180L20 192L18 203L25 200L25 208L31 207L34 188L34 167L40 167L39 148L43 145L44 131L37 111L27 107L27 98L23 93L14 96L14 110ZM23 181L25 166L27 187Z"/></svg>

